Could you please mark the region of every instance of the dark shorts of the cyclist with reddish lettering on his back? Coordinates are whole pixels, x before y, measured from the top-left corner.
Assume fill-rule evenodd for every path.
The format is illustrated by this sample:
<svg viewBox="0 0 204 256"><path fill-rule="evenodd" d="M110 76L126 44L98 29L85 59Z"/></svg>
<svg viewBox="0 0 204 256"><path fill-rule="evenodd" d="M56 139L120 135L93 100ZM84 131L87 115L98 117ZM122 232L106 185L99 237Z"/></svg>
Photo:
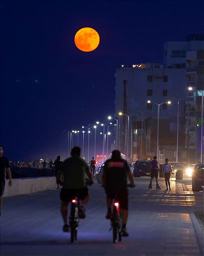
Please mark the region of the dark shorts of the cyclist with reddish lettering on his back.
<svg viewBox="0 0 204 256"><path fill-rule="evenodd" d="M128 189L122 189L118 192L113 191L112 189L105 189L107 198L114 199L117 195L118 201L120 203L120 208L124 210L128 210Z"/></svg>

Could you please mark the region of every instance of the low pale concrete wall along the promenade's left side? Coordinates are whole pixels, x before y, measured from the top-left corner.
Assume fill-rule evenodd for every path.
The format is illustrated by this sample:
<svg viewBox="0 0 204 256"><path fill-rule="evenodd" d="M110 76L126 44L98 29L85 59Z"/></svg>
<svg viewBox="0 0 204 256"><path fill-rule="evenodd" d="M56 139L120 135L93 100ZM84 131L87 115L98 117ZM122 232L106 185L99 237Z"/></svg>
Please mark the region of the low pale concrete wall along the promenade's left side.
<svg viewBox="0 0 204 256"><path fill-rule="evenodd" d="M3 197L30 194L56 188L55 177L13 179L11 187L8 186L8 181L6 180Z"/></svg>

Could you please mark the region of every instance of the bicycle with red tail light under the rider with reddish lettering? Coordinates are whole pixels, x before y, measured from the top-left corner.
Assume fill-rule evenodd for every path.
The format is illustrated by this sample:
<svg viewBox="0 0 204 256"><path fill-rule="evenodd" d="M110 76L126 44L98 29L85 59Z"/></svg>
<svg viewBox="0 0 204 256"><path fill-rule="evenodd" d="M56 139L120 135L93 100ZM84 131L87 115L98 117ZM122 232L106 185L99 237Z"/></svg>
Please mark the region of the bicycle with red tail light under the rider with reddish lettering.
<svg viewBox="0 0 204 256"><path fill-rule="evenodd" d="M128 184L127 187L133 187L131 184ZM117 199L117 195L114 198L113 203L113 215L111 218L111 229L113 229L113 243L121 242L122 240L122 217L120 203ZM109 230L109 231L110 231Z"/></svg>

